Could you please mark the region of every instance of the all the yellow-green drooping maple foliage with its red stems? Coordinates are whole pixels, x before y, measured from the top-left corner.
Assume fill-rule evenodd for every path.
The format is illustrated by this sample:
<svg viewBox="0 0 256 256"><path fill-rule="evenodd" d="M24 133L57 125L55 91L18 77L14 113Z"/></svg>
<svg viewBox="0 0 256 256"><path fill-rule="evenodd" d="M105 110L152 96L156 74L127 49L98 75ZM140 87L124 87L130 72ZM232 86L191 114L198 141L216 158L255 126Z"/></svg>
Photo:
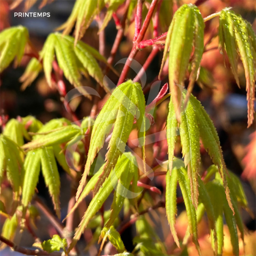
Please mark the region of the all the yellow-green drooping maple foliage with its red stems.
<svg viewBox="0 0 256 256"><path fill-rule="evenodd" d="M14 1L10 8L16 8L21 2ZM35 2L26 1L25 10ZM40 8L51 2L41 1ZM201 4L203 2L207 1ZM124 13L122 20L117 15L119 10ZM200 10L198 1L178 4L171 0L76 0L68 20L57 28L62 32L50 33L39 52L33 47L26 27L19 25L1 31L0 72L4 74L12 61L16 68L23 57L29 55L31 59L20 77L21 89L25 90L43 74L47 85L58 90L72 118L72 121L64 117L52 119L44 124L33 116L13 118L8 122L1 119L0 189L2 193L10 187L13 195L8 207L1 196L0 214L6 218L1 234L2 248L8 245L30 255L78 254L82 234L86 238L90 230L91 240L86 241L86 250L98 241L98 255L107 248L106 242L119 256L184 255L190 248L190 239L197 254L203 255L199 225L206 217L212 253L225 253L227 227L232 253L240 254L246 240L240 210L251 213L250 207L240 179L225 164L214 123L193 95L193 88L197 83L202 90L206 87L213 90L213 78L201 67L201 62L204 53L211 50L207 49L208 44L216 37L218 48L224 61L228 59L229 69L239 87L239 70L244 68L250 127L255 109L256 35L251 24L231 8L222 8L206 17ZM107 59L100 49L98 51L82 39L94 20L102 35L112 18L118 32L112 55ZM212 19L218 19L217 31L206 39L205 23ZM121 38L129 34L133 26L132 49L119 74L113 68L113 59ZM154 83L144 87L141 72L148 68L152 56L134 80L128 72L135 55L146 47L152 47L150 56L153 58L163 51L158 78L168 79L150 104L146 104L146 88L153 88ZM106 78L109 70L119 76L115 88ZM84 86L84 80L93 81L95 87ZM72 90L92 101L90 116L78 119L67 99L67 82L76 88ZM104 104L98 107L100 94L104 96ZM164 105L164 102L168 103ZM156 115L161 106L166 109L162 126ZM158 126L160 129L156 128ZM164 138L159 140L166 145L156 139L154 146L150 146L149 137L157 138L161 134ZM162 148L157 152L159 145ZM178 158L177 148L181 158ZM255 178L255 133L247 149L243 176ZM154 160L147 157L150 150ZM203 150L212 162L207 168L203 167ZM161 161L158 160L160 156ZM59 168L66 172L74 190L64 217ZM57 226L58 234L49 240L35 241L33 247L37 249L29 250L12 241L19 229L32 232L31 222L36 225L35 219L40 215L35 202L44 207L36 195L40 173L54 208L54 213L45 211ZM150 184L154 176L165 176L161 201L156 194L162 192ZM85 207L88 197L90 201ZM184 203L186 212L184 236L180 236L177 228L182 216L178 214L177 217L179 203ZM159 208L164 208L166 223L170 226L172 249L167 239L166 242L160 239L157 227L152 225L154 221L149 213ZM66 232L60 220L73 223L77 209L80 223ZM128 251L122 233L133 224L136 236L133 237L133 250Z"/></svg>

